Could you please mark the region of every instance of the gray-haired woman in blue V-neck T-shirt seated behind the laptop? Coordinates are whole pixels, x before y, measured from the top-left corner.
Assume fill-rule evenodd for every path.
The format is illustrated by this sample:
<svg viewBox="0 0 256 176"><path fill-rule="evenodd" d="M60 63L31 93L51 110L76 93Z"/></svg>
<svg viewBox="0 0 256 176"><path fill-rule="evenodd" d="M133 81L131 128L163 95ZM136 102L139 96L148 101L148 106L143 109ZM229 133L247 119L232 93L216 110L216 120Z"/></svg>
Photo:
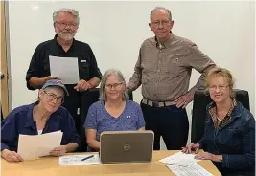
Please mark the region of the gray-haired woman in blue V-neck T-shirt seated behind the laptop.
<svg viewBox="0 0 256 176"><path fill-rule="evenodd" d="M102 78L100 99L93 103L84 121L88 146L100 148L104 131L145 130L145 121L138 103L128 99L125 78L118 70L107 70Z"/></svg>

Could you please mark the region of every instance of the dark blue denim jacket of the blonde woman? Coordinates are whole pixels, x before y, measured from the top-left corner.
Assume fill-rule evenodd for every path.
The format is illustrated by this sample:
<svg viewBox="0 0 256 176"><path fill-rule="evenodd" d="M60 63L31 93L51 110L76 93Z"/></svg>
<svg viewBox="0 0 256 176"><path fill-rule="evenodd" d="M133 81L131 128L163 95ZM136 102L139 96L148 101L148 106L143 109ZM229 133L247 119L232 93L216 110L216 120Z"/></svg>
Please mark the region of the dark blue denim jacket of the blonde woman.
<svg viewBox="0 0 256 176"><path fill-rule="evenodd" d="M231 113L231 121L215 129L209 108L206 107L204 135L198 142L200 148L215 155L222 155L222 163L214 163L219 169L249 169L255 165L255 119L237 101Z"/></svg>

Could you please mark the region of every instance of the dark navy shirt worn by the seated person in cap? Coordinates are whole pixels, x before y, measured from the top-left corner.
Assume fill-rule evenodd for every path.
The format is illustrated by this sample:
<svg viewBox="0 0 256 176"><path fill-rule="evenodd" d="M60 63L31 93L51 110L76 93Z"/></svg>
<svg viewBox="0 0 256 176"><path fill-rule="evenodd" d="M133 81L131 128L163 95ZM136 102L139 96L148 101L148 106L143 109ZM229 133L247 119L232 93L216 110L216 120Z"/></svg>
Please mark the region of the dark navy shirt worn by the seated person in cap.
<svg viewBox="0 0 256 176"><path fill-rule="evenodd" d="M33 119L35 103L13 109L1 122L1 151L4 149L17 151L19 134L38 135ZM79 147L81 146L81 139L76 131L74 120L63 107L59 107L46 121L42 134L58 130L63 132L61 145L77 143Z"/></svg>

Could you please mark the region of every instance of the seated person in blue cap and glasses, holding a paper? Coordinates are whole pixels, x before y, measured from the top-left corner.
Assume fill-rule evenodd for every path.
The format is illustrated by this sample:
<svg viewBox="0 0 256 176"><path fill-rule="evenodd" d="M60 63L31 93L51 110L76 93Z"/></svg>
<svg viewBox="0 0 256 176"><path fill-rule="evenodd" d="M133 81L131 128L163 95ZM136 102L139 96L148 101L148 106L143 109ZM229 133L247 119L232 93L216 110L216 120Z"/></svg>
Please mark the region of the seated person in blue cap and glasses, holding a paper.
<svg viewBox="0 0 256 176"><path fill-rule="evenodd" d="M4 159L8 162L23 161L16 153L19 134L40 135L61 130L60 146L50 152L53 156L63 155L81 146L73 118L65 108L60 107L65 95L68 96L68 92L60 80L48 80L39 90L38 101L12 110L1 122L1 155Z"/></svg>

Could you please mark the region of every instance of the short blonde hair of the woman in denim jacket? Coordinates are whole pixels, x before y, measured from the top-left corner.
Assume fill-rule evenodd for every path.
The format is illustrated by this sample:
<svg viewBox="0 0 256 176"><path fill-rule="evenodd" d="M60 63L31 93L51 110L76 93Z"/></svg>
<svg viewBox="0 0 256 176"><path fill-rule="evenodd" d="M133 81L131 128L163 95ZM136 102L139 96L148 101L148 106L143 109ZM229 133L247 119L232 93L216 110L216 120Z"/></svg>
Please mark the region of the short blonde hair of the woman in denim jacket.
<svg viewBox="0 0 256 176"><path fill-rule="evenodd" d="M230 97L234 98L235 95L233 87L235 86L235 80L229 70L221 67L215 67L211 69L206 77L206 91L209 91L210 81L212 77L224 77L227 81L228 86L230 87Z"/></svg>

